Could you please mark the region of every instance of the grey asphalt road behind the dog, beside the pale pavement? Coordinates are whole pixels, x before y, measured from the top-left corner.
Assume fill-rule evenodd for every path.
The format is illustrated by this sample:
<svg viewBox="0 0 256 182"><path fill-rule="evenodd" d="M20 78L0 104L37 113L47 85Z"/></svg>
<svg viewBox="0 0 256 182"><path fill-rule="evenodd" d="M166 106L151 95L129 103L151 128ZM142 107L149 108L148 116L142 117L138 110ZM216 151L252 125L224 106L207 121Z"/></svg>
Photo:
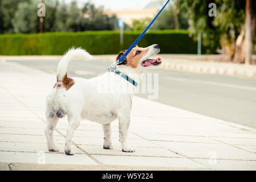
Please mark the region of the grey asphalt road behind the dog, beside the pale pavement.
<svg viewBox="0 0 256 182"><path fill-rule="evenodd" d="M55 74L59 60L15 61ZM91 78L105 72L108 62L72 61L69 77ZM194 113L256 128L256 80L221 75L151 69L159 73L157 102ZM148 94L137 94L148 98Z"/></svg>

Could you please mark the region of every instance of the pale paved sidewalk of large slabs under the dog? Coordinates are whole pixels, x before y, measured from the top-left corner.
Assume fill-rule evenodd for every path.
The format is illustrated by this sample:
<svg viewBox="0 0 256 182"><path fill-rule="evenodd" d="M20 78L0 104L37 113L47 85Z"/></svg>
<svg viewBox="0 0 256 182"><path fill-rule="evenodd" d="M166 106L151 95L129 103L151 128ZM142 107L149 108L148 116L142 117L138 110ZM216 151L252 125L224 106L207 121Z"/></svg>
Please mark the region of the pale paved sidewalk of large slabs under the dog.
<svg viewBox="0 0 256 182"><path fill-rule="evenodd" d="M16 63L0 63L0 169L256 169L256 130L135 97L128 143L121 152L118 122L113 150L103 150L101 125L82 121L76 154L64 154L66 118L56 127L59 152L48 152L45 98L56 76ZM39 165L45 155L46 165ZM50 165L52 164L52 165ZM63 165L64 164L64 165ZM78 166L79 165L79 166Z"/></svg>

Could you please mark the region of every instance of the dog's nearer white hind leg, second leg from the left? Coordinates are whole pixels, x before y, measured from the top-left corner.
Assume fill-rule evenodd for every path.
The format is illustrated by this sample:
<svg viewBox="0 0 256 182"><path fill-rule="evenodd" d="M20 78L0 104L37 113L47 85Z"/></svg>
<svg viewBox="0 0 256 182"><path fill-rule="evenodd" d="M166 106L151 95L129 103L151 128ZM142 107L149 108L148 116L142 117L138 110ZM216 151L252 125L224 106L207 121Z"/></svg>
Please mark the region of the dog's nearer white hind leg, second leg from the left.
<svg viewBox="0 0 256 182"><path fill-rule="evenodd" d="M66 136L66 143L64 148L66 155L74 155L74 152L72 152L71 150L72 137L73 137L74 131L80 125L80 121L81 121L81 118L79 114L75 114L75 115L70 114L70 116L68 116L69 124L67 127L67 136Z"/></svg>

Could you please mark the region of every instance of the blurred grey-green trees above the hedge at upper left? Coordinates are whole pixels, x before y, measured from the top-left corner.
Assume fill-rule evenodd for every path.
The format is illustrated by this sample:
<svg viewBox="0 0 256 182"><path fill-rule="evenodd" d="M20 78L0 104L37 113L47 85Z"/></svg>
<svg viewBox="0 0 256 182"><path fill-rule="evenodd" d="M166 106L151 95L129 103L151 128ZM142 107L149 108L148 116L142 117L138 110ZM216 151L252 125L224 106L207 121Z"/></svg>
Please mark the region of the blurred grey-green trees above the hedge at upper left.
<svg viewBox="0 0 256 182"><path fill-rule="evenodd" d="M44 0L46 17L43 31L115 30L117 18L103 13L103 7L85 3L80 9L73 0L67 5L60 0ZM0 0L0 33L39 32L37 0Z"/></svg>

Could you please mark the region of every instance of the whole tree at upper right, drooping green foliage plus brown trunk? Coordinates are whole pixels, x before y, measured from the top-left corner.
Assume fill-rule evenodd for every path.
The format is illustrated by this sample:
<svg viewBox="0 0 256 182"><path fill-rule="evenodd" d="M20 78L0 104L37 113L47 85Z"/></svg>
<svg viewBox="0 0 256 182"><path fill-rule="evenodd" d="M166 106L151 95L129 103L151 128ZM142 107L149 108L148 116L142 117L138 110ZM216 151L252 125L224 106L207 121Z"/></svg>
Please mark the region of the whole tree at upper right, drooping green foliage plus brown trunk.
<svg viewBox="0 0 256 182"><path fill-rule="evenodd" d="M208 52L221 48L236 63L250 63L255 32L256 2L252 0L184 0L178 1L186 9L189 31L202 40ZM209 4L216 3L217 16L209 16ZM246 33L247 32L247 33Z"/></svg>

